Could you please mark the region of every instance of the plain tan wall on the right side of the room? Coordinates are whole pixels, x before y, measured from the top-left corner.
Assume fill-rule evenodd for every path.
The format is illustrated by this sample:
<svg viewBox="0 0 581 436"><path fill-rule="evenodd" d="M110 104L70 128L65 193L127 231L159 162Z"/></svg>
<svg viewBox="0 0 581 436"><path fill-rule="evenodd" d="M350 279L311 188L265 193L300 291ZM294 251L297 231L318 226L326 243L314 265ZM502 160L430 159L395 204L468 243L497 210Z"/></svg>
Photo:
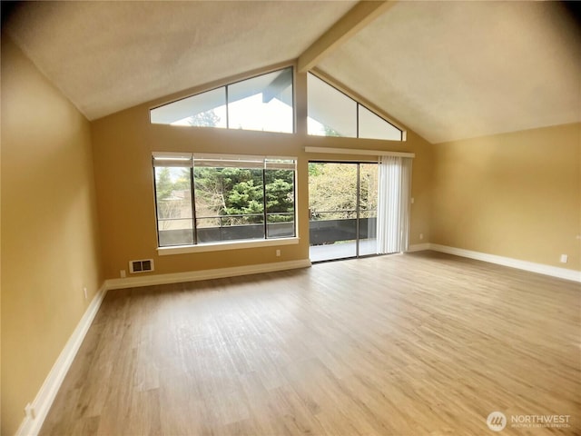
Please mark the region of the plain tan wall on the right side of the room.
<svg viewBox="0 0 581 436"><path fill-rule="evenodd" d="M437 144L434 154L431 243L581 270L581 124Z"/></svg>

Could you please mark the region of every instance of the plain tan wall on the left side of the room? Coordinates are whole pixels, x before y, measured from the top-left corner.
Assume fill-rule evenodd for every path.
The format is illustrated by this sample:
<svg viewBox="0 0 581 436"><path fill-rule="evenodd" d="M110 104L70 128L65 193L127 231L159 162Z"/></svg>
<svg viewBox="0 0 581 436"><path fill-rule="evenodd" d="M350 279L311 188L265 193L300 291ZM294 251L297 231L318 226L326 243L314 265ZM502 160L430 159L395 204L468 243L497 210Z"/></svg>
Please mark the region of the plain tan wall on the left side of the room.
<svg viewBox="0 0 581 436"><path fill-rule="evenodd" d="M5 35L1 184L1 432L10 435L103 277L89 123Z"/></svg>

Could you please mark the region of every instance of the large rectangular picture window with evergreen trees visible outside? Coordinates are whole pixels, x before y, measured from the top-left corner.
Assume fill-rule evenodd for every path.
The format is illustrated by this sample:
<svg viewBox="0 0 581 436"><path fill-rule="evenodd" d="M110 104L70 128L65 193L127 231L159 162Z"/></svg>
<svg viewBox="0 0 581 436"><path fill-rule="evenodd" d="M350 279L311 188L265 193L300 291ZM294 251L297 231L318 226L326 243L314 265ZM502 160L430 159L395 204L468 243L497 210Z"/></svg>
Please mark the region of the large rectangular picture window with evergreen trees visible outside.
<svg viewBox="0 0 581 436"><path fill-rule="evenodd" d="M158 246L290 238L293 158L154 154Z"/></svg>

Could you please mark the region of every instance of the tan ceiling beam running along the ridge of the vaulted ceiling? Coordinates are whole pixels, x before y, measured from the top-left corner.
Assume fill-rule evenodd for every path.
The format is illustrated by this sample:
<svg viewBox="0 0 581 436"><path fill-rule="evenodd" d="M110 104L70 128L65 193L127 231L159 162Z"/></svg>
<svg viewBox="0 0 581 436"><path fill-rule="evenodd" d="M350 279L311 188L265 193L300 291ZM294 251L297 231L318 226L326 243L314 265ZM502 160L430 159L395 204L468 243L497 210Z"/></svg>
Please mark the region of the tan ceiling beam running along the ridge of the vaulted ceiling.
<svg viewBox="0 0 581 436"><path fill-rule="evenodd" d="M361 1L343 15L320 38L299 56L299 72L312 69L320 60L345 43L379 15L387 11L396 1Z"/></svg>

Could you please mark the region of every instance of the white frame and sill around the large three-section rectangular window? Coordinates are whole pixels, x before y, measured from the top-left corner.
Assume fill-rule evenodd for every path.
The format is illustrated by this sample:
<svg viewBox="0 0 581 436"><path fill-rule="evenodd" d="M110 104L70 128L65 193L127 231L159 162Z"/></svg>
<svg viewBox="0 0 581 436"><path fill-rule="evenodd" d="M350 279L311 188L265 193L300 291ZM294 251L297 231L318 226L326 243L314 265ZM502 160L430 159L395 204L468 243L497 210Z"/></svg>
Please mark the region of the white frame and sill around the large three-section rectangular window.
<svg viewBox="0 0 581 436"><path fill-rule="evenodd" d="M156 163L156 159L159 163ZM195 175L194 169L195 161L210 160L210 161L222 161L224 163L229 163L227 167L231 168L244 168L243 165L236 166L236 161L246 161L251 163L261 163L262 172L262 217L263 223L263 235L262 238L256 239L240 239L240 240L226 240L226 241L212 241L212 242L199 242L198 230L199 226L197 223L198 213L196 211L195 204ZM163 161L182 161L180 164L167 165L162 164ZM287 161L288 163L272 163L273 161ZM187 164L186 164L187 163ZM298 237L298 211L297 211L297 157L287 157L287 156L250 156L250 155L231 155L231 154L182 154L182 153L165 153L165 152L154 152L152 154L152 169L153 169L153 199L154 199L154 212L155 212L155 227L156 227L156 242L157 251L160 255L167 254L179 254L179 253L197 253L197 252L211 252L220 250L232 250L241 248L252 248L252 247L263 247L263 246L274 246L274 245L288 245L299 243ZM281 165L281 166L279 166ZM286 167L283 167L286 165ZM291 166L289 166L291 165ZM203 167L204 165L202 165ZM159 214L159 203L158 203L158 193L157 193L157 178L156 178L156 168L171 168L171 167L182 167L188 168L190 173L190 195L191 195L191 207L192 207L192 217L184 218L184 220L192 220L192 242L193 243L180 243L173 245L162 245L160 241L160 214ZM200 167L200 166L199 166ZM214 168L212 165L206 165L206 167ZM221 167L215 167L221 168ZM257 167L256 169L259 169ZM292 172L292 235L289 236L271 236L269 237L268 232L268 206L267 206L267 196L266 196L266 172L271 169L283 169ZM228 215L225 215L228 216Z"/></svg>

